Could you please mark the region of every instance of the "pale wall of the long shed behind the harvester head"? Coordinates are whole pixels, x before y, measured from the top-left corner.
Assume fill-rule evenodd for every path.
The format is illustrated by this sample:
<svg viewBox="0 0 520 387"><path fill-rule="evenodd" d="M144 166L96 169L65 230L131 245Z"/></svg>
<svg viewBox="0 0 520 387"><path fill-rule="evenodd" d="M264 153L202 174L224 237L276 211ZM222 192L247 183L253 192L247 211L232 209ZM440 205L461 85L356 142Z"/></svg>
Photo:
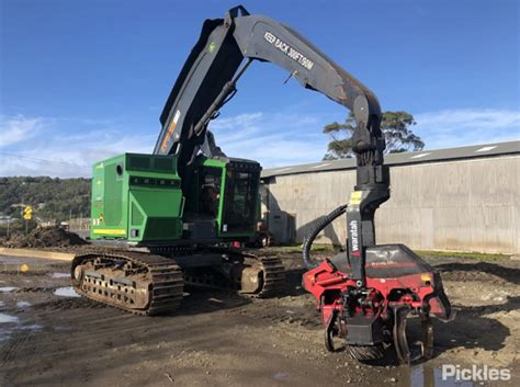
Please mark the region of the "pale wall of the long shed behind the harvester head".
<svg viewBox="0 0 520 387"><path fill-rule="evenodd" d="M392 197L376 213L378 243L520 253L519 156L396 166L391 177ZM315 219L348 202L354 178L354 170L271 178L267 206L275 239L301 242ZM318 242L344 243L346 236L340 217Z"/></svg>

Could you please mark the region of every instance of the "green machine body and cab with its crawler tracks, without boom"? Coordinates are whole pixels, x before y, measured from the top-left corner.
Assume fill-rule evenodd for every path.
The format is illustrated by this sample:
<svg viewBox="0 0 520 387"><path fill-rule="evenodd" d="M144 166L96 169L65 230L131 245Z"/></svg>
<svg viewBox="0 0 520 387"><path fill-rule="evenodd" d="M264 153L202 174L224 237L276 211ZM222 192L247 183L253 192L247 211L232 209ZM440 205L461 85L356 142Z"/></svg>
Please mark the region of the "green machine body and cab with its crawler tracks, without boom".
<svg viewBox="0 0 520 387"><path fill-rule="evenodd" d="M222 152L178 160L124 153L93 166L93 248L72 262L76 291L140 315L174 310L184 285L279 294L280 259L240 249L257 238L260 164Z"/></svg>

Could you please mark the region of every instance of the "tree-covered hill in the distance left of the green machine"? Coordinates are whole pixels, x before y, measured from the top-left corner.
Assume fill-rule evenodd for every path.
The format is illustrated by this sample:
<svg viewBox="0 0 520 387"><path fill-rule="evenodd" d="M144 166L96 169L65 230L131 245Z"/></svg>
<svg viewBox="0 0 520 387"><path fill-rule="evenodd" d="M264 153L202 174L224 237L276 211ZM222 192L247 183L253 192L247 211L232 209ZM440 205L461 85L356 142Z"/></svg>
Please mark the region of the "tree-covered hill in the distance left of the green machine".
<svg viewBox="0 0 520 387"><path fill-rule="evenodd" d="M90 179L0 178L0 213L20 217L22 202L45 221L89 217Z"/></svg>

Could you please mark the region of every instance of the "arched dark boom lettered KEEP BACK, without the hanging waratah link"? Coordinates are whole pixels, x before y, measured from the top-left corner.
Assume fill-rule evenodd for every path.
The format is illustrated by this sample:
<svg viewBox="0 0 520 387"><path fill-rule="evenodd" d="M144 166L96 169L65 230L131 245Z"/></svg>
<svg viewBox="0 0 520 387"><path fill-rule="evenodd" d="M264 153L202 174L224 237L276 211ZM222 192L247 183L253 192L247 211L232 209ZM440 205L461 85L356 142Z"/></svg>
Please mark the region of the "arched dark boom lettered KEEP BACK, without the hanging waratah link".
<svg viewBox="0 0 520 387"><path fill-rule="evenodd" d="M237 73L244 58L248 62ZM363 160L382 163L384 141L375 95L297 32L272 19L249 15L242 7L229 10L224 19L204 22L160 116L162 130L154 153L177 153L182 170L195 147L204 141L207 122L235 91L234 83L255 59L284 68L305 88L352 111L361 134L354 150L370 151L370 160Z"/></svg>

